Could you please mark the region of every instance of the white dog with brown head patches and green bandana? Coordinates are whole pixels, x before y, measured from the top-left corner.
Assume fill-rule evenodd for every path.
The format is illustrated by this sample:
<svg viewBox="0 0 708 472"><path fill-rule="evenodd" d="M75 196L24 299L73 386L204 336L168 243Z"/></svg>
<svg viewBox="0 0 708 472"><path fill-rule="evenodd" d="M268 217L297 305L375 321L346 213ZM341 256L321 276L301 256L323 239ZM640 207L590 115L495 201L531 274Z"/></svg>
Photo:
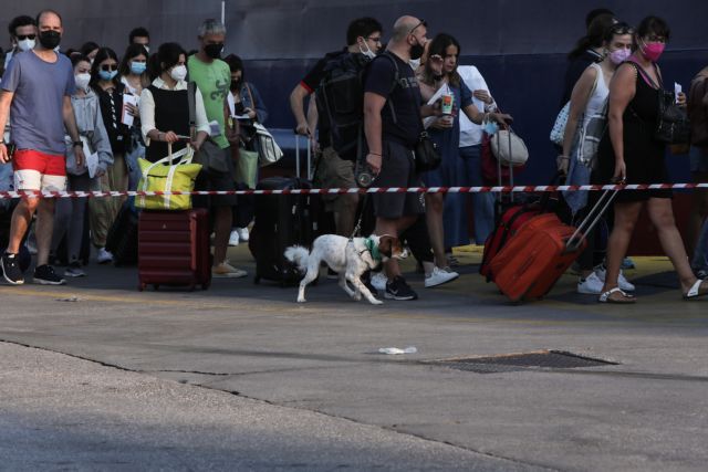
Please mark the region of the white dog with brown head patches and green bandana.
<svg viewBox="0 0 708 472"><path fill-rule="evenodd" d="M371 291L362 283L362 275L376 269L378 264L388 259L404 259L400 241L391 235L371 235L368 238L347 239L336 234L323 234L312 243L312 251L293 245L285 250L285 259L294 263L305 276L300 282L298 302L305 302L305 286L317 279L320 262L324 261L333 271L340 274L340 286L352 298L360 301L362 295L373 305L381 305L382 301L372 295ZM350 289L350 282L354 290Z"/></svg>

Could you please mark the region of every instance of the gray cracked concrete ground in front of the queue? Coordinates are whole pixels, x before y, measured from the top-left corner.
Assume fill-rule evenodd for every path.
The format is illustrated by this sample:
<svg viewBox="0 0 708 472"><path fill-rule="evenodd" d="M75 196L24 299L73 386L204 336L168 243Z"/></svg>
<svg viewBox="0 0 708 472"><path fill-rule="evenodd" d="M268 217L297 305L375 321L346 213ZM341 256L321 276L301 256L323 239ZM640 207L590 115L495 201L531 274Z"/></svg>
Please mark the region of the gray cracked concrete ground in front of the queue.
<svg viewBox="0 0 708 472"><path fill-rule="evenodd" d="M517 306L459 259L434 290L407 262L420 300L382 306L324 277L306 304L252 279L139 293L97 265L0 286L0 469L706 470L708 300L681 301L666 260L627 272L634 306L571 275ZM544 349L616 364L436 363Z"/></svg>

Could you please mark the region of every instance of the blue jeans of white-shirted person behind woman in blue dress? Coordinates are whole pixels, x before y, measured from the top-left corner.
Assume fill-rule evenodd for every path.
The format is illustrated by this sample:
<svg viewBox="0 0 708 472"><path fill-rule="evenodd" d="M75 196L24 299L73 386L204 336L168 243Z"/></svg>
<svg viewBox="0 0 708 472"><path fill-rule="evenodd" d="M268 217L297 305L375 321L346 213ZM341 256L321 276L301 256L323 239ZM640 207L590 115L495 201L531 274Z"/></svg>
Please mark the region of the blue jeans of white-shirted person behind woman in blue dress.
<svg viewBox="0 0 708 472"><path fill-rule="evenodd" d="M481 145L460 147L460 158L465 165L464 187L482 187L481 155ZM494 195L471 193L471 199L475 214L475 242L483 244L494 230Z"/></svg>

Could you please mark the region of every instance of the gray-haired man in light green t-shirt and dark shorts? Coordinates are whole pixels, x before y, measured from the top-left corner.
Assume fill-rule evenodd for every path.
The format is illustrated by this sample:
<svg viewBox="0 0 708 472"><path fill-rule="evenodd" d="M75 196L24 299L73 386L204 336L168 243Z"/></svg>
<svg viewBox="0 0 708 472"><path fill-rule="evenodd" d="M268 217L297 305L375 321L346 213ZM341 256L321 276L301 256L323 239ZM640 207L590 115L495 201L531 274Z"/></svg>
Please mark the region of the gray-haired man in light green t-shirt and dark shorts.
<svg viewBox="0 0 708 472"><path fill-rule="evenodd" d="M231 70L219 56L223 50L226 28L216 20L206 20L199 27L199 52L189 56L187 67L189 80L195 82L201 91L207 118L218 124L218 135L212 132L214 141L223 150L223 158L231 161L231 149L227 139L226 116L227 96L231 84ZM216 132L216 129L215 129ZM232 172L218 172L214 169L202 169L197 177L197 190L235 190ZM243 277L246 271L233 268L226 259L231 234L231 208L236 204L236 196L195 196L195 207L209 208L215 212L214 268L215 277Z"/></svg>

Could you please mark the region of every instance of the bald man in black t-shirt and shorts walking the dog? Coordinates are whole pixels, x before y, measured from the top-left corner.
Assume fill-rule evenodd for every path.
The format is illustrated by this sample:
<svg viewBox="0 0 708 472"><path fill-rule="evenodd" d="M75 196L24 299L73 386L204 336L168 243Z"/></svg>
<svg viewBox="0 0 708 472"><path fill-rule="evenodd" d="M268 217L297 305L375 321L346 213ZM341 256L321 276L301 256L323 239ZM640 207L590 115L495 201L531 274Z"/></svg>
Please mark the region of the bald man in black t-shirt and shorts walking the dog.
<svg viewBox="0 0 708 472"><path fill-rule="evenodd" d="M425 21L399 18L386 52L374 60L366 76L364 128L369 149L366 162L377 176L376 187L420 186L413 149L423 130L421 116L439 114L439 111L421 106L418 82L408 61L423 55L426 34ZM372 198L376 234L398 237L425 211L417 193L374 193ZM389 260L385 269L386 298L418 297L400 275L396 260Z"/></svg>

